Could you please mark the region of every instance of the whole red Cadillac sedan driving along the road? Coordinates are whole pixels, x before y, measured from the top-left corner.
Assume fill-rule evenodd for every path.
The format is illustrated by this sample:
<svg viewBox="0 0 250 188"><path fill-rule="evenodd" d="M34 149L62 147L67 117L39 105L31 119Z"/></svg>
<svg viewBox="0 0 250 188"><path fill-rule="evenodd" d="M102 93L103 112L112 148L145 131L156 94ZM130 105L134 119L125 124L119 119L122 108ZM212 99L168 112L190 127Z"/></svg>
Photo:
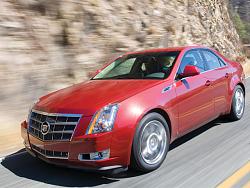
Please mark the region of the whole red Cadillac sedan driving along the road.
<svg viewBox="0 0 250 188"><path fill-rule="evenodd" d="M39 99L21 124L26 150L67 167L157 169L175 139L245 108L245 75L217 51L127 53L90 80Z"/></svg>

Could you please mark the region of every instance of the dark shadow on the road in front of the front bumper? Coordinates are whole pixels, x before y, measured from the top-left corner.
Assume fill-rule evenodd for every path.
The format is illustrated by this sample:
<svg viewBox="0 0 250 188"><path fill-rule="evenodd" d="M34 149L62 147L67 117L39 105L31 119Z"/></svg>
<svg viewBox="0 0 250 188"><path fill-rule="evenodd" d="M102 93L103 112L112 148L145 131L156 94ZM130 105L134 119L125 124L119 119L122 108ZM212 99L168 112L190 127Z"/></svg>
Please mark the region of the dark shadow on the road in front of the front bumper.
<svg viewBox="0 0 250 188"><path fill-rule="evenodd" d="M19 153L6 157L1 165L16 176L33 181L66 187L93 187L119 181L101 173L57 167L36 159L27 152Z"/></svg>

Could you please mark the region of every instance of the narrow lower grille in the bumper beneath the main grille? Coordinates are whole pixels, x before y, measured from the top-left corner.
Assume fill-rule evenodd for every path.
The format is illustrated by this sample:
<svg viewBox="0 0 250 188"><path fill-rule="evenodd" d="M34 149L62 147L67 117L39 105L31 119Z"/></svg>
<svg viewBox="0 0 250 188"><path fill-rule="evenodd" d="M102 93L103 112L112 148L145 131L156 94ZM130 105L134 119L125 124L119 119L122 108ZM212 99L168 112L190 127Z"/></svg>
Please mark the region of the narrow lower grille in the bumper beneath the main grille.
<svg viewBox="0 0 250 188"><path fill-rule="evenodd" d="M69 152L64 151L52 151L52 150L45 150L42 148L39 148L33 144L31 144L31 148L35 150L40 155L43 155L47 158L57 158L57 159L68 159L69 158Z"/></svg>

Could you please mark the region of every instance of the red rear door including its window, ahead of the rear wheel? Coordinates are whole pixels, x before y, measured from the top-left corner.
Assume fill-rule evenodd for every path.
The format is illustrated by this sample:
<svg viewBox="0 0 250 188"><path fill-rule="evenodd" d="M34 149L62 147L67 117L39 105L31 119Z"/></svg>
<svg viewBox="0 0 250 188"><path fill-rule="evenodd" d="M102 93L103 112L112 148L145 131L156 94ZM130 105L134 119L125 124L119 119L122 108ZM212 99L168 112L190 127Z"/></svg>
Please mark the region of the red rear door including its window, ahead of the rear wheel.
<svg viewBox="0 0 250 188"><path fill-rule="evenodd" d="M214 52L203 49L202 55L208 67L206 77L213 86L214 109L218 116L227 111L228 80L231 75L228 72L227 64Z"/></svg>

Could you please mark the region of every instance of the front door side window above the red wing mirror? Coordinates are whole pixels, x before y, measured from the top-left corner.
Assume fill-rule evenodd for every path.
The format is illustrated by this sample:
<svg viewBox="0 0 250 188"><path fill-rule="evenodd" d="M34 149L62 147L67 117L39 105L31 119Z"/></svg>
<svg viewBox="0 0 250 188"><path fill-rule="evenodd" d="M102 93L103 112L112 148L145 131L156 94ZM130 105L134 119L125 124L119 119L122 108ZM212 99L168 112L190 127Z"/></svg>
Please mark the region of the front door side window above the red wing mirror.
<svg viewBox="0 0 250 188"><path fill-rule="evenodd" d="M200 72L204 72L206 70L201 54L197 50L192 50L184 55L178 70L178 74L182 74L187 65L198 67Z"/></svg>

